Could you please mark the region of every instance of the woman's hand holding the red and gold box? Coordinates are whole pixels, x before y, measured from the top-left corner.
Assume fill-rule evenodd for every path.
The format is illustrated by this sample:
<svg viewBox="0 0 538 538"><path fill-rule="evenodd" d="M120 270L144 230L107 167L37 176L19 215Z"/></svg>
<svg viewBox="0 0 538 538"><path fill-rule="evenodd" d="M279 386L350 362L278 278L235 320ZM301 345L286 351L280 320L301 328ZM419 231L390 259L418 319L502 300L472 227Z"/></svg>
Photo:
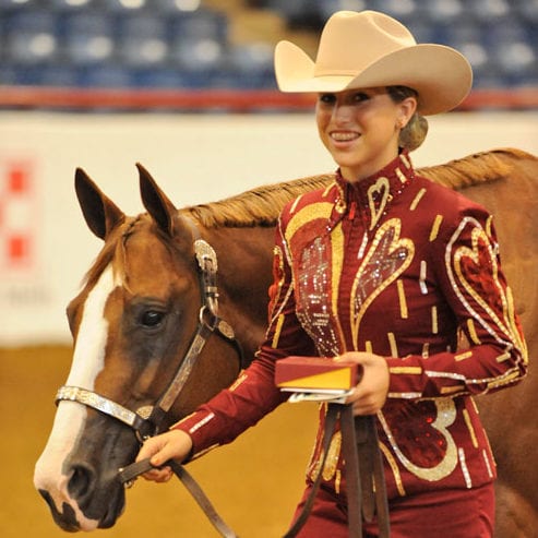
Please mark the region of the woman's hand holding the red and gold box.
<svg viewBox="0 0 538 538"><path fill-rule="evenodd" d="M375 415L385 404L388 394L388 364L379 355L350 351L335 357L336 362L360 364L362 376L359 384L347 397L346 404L352 405L354 415Z"/></svg>

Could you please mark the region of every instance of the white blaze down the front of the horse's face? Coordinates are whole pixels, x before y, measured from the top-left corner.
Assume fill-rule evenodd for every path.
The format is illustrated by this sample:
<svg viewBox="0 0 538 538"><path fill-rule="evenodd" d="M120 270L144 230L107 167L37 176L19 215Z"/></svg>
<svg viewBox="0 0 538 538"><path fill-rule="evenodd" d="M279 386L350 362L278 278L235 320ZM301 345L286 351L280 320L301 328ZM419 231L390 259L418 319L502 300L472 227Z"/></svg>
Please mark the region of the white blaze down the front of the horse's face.
<svg viewBox="0 0 538 538"><path fill-rule="evenodd" d="M95 380L104 368L108 337L105 306L118 284L115 282L112 267L108 266L86 298L68 385L94 390ZM76 502L70 498L68 483L72 473L69 471L69 466L68 474L63 469L63 464L75 449L79 434L84 428L86 415L87 410L83 405L74 402L59 404L47 446L36 464L34 483L37 489L50 494L59 512L62 512L63 503L68 503L74 510L82 530L93 530L98 522L84 517Z"/></svg>

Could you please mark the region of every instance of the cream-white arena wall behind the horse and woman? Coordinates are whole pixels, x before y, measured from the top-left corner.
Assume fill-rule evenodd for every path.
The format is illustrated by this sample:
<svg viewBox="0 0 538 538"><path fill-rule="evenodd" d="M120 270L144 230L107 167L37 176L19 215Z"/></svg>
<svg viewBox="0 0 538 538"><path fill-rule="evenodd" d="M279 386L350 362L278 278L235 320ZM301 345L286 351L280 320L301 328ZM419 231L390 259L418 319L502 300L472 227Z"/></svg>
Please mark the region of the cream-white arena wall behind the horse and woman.
<svg viewBox="0 0 538 538"><path fill-rule="evenodd" d="M84 168L125 213L142 163L178 206L334 169L311 115L0 115L0 347L67 344L64 308L100 248L73 189ZM538 112L430 120L417 166L495 147L538 154Z"/></svg>

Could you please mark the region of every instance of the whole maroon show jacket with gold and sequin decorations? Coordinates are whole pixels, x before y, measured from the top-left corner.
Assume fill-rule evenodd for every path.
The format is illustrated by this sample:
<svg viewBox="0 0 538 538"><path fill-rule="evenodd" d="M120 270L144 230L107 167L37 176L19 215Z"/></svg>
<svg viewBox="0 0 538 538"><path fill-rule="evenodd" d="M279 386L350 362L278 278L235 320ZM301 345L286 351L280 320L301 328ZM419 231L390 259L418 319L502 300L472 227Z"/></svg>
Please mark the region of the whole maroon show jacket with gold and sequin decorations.
<svg viewBox="0 0 538 538"><path fill-rule="evenodd" d="M527 354L485 208L416 176L406 153L356 184L337 174L283 211L270 297L252 364L174 426L192 437L193 457L286 400L276 360L360 350L388 362L378 429L390 499L494 479L473 395L518 382ZM308 480L319 471L324 416L322 405ZM323 479L344 500L340 441L336 432Z"/></svg>

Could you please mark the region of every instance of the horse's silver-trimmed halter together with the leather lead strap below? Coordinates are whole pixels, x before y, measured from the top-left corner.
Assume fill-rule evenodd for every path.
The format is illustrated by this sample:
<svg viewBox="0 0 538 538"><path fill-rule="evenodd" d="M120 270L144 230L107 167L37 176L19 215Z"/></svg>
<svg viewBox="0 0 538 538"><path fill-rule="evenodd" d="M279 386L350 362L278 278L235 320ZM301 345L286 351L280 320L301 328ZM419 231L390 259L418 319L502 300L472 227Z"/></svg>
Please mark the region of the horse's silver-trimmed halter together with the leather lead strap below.
<svg viewBox="0 0 538 538"><path fill-rule="evenodd" d="M243 366L242 349L239 342L236 339L234 330L218 315L218 288L216 283L218 264L215 250L200 237L198 228L195 228L190 220L187 222L191 226L195 238L194 254L200 270L199 276L202 306L199 311L196 332L191 339L183 360L180 362L176 375L169 383L165 393L157 399L154 406L144 406L136 411L132 411L121 404L101 396L94 391L79 386L61 386L56 395L57 404L59 402L76 402L123 422L134 430L136 438L141 443L159 432L159 428L162 427L166 415L184 387L196 360L213 334L220 336L235 347L239 358L239 367L242 368ZM169 465L178 478L181 479L217 530L225 537L236 536L220 519L208 499L187 470L174 461L167 462L166 465ZM125 487L130 487L136 476L151 468L151 464L145 459L131 464L125 468L120 468L118 476Z"/></svg>

